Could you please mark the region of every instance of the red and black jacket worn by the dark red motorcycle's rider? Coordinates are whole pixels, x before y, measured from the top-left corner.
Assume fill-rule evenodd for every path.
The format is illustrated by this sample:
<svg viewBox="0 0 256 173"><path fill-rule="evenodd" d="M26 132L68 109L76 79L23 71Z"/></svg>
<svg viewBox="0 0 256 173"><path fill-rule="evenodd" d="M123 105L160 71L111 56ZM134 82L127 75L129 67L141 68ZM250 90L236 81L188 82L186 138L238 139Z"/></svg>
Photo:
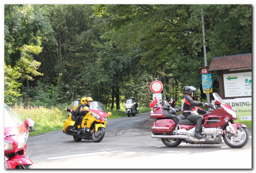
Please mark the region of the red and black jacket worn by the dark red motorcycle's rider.
<svg viewBox="0 0 256 173"><path fill-rule="evenodd" d="M202 106L204 103L200 101L192 100L191 97L185 95L181 105L181 111L184 116L190 115L193 112L205 114L206 110L199 108L198 106Z"/></svg>

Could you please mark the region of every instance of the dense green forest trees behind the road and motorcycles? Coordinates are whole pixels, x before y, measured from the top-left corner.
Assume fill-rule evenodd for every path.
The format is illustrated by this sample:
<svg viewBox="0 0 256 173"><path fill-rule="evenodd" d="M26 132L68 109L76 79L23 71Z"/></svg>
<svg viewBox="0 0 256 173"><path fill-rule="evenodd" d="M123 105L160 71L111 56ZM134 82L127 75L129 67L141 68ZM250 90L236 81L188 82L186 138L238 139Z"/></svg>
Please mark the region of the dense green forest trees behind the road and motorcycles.
<svg viewBox="0 0 256 173"><path fill-rule="evenodd" d="M167 97L193 85L204 99L202 14L208 66L252 52L251 5L5 5L4 101L51 107L90 96L119 109L134 96L148 106L156 78Z"/></svg>

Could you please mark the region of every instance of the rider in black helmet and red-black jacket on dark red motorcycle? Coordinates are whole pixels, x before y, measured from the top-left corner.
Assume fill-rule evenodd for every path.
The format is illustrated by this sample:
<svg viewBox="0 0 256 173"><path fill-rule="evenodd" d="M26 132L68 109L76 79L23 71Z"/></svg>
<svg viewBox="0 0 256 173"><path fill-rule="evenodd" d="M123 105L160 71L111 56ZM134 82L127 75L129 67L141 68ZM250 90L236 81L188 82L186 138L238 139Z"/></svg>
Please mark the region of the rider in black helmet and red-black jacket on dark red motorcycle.
<svg viewBox="0 0 256 173"><path fill-rule="evenodd" d="M193 97L193 92L195 91L196 91L196 88L193 86L184 86L183 93L185 95L182 101L181 111L182 111L182 114L185 116L185 119L188 119L189 121L196 123L194 137L203 138L202 134L200 134L200 129L203 122L203 116L199 115L198 113L205 114L207 113L207 111L197 106L208 106L208 103L192 100L191 97Z"/></svg>

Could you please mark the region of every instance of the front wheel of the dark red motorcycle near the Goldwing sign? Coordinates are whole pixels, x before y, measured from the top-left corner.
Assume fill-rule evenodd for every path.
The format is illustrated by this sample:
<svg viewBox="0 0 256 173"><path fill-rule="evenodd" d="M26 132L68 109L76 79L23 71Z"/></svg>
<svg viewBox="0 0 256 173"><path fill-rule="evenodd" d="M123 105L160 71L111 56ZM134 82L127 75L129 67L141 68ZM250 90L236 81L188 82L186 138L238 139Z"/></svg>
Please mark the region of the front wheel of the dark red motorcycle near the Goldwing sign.
<svg viewBox="0 0 256 173"><path fill-rule="evenodd" d="M241 148L249 141L249 132L245 127L237 127L237 133L226 132L223 140L231 148Z"/></svg>

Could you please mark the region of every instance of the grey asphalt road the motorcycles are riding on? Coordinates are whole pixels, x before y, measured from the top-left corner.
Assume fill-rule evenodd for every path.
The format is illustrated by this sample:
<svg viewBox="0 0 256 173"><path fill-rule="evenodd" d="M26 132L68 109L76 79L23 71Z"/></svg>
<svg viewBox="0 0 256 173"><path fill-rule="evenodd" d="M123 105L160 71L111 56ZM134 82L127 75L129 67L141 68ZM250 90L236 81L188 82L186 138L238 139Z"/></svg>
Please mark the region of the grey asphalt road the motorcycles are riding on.
<svg viewBox="0 0 256 173"><path fill-rule="evenodd" d="M106 134L99 143L73 137L62 130L31 136L27 155L36 169L251 169L252 131L243 148L230 148L225 143L197 145L181 143L166 147L151 138L154 120L149 113L135 117L110 119Z"/></svg>

